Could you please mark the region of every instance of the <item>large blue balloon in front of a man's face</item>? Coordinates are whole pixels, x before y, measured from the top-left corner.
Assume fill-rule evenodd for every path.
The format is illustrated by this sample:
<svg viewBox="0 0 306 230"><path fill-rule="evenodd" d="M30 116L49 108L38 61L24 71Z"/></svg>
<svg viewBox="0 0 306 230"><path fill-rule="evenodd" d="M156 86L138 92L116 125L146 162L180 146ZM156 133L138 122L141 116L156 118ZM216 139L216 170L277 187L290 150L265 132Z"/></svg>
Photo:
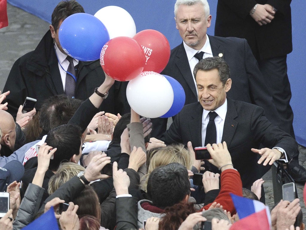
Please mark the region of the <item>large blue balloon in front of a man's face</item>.
<svg viewBox="0 0 306 230"><path fill-rule="evenodd" d="M95 16L75 13L62 22L58 39L69 56L80 61L93 61L100 58L101 49L110 36Z"/></svg>

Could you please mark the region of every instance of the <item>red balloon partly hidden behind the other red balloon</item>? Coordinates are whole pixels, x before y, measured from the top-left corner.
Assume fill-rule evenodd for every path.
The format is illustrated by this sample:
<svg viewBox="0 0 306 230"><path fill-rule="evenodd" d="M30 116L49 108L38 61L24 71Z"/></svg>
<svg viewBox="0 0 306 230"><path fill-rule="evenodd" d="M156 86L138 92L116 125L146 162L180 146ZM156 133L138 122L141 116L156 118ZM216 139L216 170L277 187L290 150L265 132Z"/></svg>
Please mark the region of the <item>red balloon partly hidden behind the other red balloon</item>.
<svg viewBox="0 0 306 230"><path fill-rule="evenodd" d="M144 71L160 73L170 58L170 45L167 38L154 29L140 31L133 38L144 49L146 55Z"/></svg>

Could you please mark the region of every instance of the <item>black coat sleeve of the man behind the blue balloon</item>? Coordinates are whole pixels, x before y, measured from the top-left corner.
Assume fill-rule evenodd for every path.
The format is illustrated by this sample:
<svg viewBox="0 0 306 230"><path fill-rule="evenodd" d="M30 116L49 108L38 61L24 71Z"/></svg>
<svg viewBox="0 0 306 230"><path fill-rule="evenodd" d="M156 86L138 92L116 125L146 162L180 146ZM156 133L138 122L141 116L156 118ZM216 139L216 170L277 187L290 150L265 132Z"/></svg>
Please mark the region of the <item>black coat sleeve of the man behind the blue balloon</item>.
<svg viewBox="0 0 306 230"><path fill-rule="evenodd" d="M23 104L24 99L27 97L28 92L24 83L24 76L22 75L20 59L18 59L9 72L3 92L10 91L6 100L8 102L8 110L14 119L16 119L17 111L20 105Z"/></svg>

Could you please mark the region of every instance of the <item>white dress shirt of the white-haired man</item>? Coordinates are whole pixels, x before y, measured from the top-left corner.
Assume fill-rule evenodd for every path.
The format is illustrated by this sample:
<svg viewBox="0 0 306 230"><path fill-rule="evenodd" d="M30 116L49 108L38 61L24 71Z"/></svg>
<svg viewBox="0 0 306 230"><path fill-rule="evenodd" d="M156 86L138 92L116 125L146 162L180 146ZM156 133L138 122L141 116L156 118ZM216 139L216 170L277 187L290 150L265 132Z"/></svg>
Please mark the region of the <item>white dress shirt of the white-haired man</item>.
<svg viewBox="0 0 306 230"><path fill-rule="evenodd" d="M189 47L188 45L186 45L185 42L183 42L183 45L184 45L184 48L185 48L185 51L186 51L186 54L187 54L187 58L188 58L190 70L191 70L191 73L192 73L194 85L196 86L196 79L193 76L193 69L196 66L196 64L199 62L199 60L196 57L194 57L194 55L196 53L199 53L199 52L203 51L204 52L203 59L207 58L207 57L213 57L212 51L211 51L211 46L210 46L210 43L209 43L209 38L206 34L206 42L200 50L195 50L195 49ZM196 92L198 93L197 87L196 87ZM199 98L198 98L198 101L199 101Z"/></svg>

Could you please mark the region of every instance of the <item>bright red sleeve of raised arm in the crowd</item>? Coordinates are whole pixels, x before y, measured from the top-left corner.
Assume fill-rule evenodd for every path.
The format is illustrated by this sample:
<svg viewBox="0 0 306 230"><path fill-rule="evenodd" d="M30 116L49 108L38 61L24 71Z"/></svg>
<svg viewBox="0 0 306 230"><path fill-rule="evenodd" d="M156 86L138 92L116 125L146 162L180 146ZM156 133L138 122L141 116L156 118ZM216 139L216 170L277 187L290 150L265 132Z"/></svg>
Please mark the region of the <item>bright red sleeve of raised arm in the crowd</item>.
<svg viewBox="0 0 306 230"><path fill-rule="evenodd" d="M242 182L240 174L234 169L227 169L221 173L221 190L214 202L220 203L223 209L229 211L231 215L236 213L230 193L242 197ZM211 203L205 205L202 210L207 210Z"/></svg>

